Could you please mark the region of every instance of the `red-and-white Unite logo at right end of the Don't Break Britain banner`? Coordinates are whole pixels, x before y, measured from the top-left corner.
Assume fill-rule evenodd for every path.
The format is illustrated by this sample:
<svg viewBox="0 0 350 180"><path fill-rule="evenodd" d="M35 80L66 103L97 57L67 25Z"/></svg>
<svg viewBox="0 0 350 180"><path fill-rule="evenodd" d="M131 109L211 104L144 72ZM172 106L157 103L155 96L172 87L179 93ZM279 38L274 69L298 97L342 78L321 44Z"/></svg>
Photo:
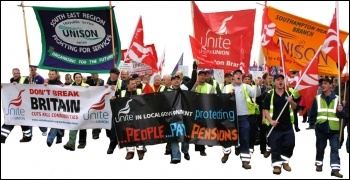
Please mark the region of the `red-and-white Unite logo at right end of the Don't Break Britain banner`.
<svg viewBox="0 0 350 180"><path fill-rule="evenodd" d="M108 112L103 112L102 110L105 108L105 101L106 101L106 96L108 96L110 94L110 92L105 93L102 98L100 99L100 101L98 101L97 103L93 104L89 110L88 113L84 113L83 114L83 119L84 120L98 120L96 122L99 122L100 120L105 121L108 120ZM90 110L95 110L94 112L90 112Z"/></svg>

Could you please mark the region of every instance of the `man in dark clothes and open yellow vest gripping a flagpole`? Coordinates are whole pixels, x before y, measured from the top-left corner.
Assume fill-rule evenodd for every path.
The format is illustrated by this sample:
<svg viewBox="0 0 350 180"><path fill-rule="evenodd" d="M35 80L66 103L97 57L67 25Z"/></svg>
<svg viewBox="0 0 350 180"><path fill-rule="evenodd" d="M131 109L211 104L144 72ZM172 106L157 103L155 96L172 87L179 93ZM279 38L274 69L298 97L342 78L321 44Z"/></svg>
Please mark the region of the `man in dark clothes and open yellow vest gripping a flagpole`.
<svg viewBox="0 0 350 180"><path fill-rule="evenodd" d="M293 155L295 146L293 109L297 107L297 103L293 100L291 92L285 89L282 74L274 77L274 83L275 88L265 96L263 113L266 117L266 125L274 127L268 139L271 147L272 173L281 174L281 166L286 171L292 170L289 166L289 159ZM279 115L280 118L276 121Z"/></svg>

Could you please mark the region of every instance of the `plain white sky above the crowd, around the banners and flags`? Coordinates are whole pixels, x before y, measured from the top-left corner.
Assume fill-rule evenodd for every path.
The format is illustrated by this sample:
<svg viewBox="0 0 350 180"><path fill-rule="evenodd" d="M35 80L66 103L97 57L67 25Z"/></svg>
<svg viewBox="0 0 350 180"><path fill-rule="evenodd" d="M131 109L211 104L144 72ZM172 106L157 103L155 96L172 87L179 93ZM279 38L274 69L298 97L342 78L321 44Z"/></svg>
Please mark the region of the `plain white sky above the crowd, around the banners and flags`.
<svg viewBox="0 0 350 180"><path fill-rule="evenodd" d="M258 57L259 38L261 32L261 16L263 1L237 2L237 1L211 1L196 2L202 12L232 11L242 9L256 9L255 37L251 52L251 64ZM340 29L349 31L349 2L340 3ZM27 47L23 25L23 14L17 5L20 1L1 1L1 82L9 82L12 77L11 69L18 67L22 75L28 74ZM92 2L39 2L24 1L28 6L52 6L52 7L91 7L108 6L108 1ZM193 26L191 19L191 6L188 2L123 2L114 1L115 15L121 40L122 49L130 45L136 23L142 15L144 26L145 44L154 43L161 56L166 47L165 73L171 73L182 52L184 52L184 65L189 65L191 70L192 52L188 35L192 35ZM301 1L276 1L268 2L282 11L319 22L329 26L334 13L334 1L325 2L301 2ZM34 11L30 7L25 8L31 64L37 65L41 57L40 30ZM348 40L344 43L348 53ZM39 70L39 73L47 77L47 70ZM163 73L164 74L164 73ZM104 77L107 77L104 76Z"/></svg>

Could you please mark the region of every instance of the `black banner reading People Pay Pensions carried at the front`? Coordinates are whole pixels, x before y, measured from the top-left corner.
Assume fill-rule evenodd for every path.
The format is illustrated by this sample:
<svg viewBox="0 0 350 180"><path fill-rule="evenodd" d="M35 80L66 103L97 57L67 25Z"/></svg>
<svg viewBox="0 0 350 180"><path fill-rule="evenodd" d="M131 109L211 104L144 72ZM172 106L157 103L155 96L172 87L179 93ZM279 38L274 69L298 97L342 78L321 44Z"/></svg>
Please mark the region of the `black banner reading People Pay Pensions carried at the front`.
<svg viewBox="0 0 350 180"><path fill-rule="evenodd" d="M189 142L238 144L236 103L229 94L166 91L111 101L119 147Z"/></svg>

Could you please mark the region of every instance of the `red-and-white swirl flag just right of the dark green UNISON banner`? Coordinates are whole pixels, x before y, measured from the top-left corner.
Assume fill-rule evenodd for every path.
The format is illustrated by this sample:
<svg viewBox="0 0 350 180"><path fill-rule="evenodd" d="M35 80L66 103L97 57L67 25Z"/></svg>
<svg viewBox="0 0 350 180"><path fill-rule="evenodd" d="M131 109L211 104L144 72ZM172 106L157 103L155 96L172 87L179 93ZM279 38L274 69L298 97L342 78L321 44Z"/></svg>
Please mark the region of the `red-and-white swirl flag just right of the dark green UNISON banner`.
<svg viewBox="0 0 350 180"><path fill-rule="evenodd" d="M129 49L124 57L126 63L129 63L130 60L137 63L144 63L158 71L157 61L152 54L152 48L145 46L143 43L142 16L140 16L134 32L134 37L132 38Z"/></svg>

